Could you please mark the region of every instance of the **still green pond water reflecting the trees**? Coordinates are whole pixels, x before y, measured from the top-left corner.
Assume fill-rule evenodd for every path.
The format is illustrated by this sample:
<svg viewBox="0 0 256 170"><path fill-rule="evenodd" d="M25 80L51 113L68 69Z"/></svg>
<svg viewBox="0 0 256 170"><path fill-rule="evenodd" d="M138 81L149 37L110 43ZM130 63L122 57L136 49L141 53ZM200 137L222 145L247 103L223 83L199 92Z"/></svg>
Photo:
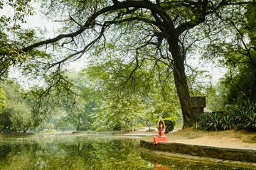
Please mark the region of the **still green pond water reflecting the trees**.
<svg viewBox="0 0 256 170"><path fill-rule="evenodd" d="M88 135L0 137L0 170L245 169L165 159L137 150L139 139Z"/></svg>

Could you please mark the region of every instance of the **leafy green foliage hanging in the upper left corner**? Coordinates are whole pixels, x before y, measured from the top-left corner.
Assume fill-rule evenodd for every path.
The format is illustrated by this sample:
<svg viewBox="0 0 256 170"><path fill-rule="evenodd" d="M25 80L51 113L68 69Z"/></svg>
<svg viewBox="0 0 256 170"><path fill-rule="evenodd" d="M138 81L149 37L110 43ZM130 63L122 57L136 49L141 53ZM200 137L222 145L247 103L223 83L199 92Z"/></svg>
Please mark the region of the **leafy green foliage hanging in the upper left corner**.
<svg viewBox="0 0 256 170"><path fill-rule="evenodd" d="M26 17L33 15L31 0L1 1L0 8L9 8L13 15L0 16L0 79L7 77L9 67L23 64L29 56L21 50L24 45L31 42L33 29L22 29L21 23L26 23ZM13 11L13 12L10 12Z"/></svg>

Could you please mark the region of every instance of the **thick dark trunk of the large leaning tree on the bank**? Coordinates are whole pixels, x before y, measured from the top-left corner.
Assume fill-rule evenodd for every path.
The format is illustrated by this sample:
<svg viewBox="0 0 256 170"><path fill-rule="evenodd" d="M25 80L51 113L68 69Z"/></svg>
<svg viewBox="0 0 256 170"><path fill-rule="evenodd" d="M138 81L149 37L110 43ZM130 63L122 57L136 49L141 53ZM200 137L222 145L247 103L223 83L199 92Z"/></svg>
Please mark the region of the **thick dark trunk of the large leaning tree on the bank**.
<svg viewBox="0 0 256 170"><path fill-rule="evenodd" d="M185 56L181 54L178 41L169 41L169 51L174 58L174 81L181 103L181 111L183 115L183 129L193 126L196 123L196 116L193 114L191 106L191 98L189 96L188 84L185 74L184 61Z"/></svg>

